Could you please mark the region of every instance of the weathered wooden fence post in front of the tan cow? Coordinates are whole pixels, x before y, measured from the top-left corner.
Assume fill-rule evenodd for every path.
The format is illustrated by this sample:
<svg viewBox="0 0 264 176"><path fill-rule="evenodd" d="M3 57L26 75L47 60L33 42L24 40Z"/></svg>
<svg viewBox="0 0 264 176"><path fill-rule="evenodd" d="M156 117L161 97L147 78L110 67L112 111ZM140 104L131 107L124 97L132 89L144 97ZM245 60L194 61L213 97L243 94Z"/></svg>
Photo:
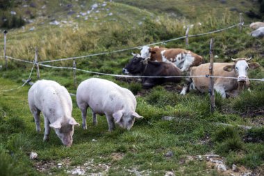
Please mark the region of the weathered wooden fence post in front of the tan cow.
<svg viewBox="0 0 264 176"><path fill-rule="evenodd" d="M209 66L209 76L213 76L213 38L210 40L210 66ZM209 83L209 93L211 99L211 113L215 111L215 90L214 90L214 79L210 77Z"/></svg>

